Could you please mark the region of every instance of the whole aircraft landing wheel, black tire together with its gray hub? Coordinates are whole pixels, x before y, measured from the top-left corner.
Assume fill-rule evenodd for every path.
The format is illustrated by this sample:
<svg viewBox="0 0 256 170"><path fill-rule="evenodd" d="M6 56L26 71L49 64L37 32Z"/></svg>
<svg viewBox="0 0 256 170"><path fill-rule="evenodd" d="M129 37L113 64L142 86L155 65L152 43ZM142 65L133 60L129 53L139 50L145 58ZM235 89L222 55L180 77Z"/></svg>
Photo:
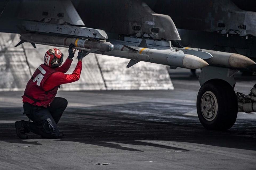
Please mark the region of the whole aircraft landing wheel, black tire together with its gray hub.
<svg viewBox="0 0 256 170"><path fill-rule="evenodd" d="M197 95L198 118L206 129L230 129L237 118L235 91L224 80L212 79L205 82Z"/></svg>

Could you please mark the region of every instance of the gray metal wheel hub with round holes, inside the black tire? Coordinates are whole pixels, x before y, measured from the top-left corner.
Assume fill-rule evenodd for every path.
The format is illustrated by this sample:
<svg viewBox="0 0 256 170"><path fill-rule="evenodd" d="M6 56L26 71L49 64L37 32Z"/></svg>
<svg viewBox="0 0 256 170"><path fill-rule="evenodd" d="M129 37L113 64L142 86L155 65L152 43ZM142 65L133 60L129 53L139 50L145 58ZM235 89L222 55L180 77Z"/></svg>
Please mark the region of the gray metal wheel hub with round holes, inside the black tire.
<svg viewBox="0 0 256 170"><path fill-rule="evenodd" d="M201 111L203 117L212 121L217 115L218 105L216 96L211 91L206 91L201 98Z"/></svg>

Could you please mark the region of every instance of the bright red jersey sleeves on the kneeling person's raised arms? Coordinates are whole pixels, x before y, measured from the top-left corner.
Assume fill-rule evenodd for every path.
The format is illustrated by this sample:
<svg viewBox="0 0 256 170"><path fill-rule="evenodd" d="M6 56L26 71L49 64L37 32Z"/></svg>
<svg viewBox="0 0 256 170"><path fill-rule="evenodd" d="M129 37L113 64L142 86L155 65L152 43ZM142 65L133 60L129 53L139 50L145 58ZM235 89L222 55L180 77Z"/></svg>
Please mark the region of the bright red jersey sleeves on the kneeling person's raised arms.
<svg viewBox="0 0 256 170"><path fill-rule="evenodd" d="M77 66L75 67L75 70L72 74L65 74L67 70L69 70L72 61L73 60L67 58L62 66L57 67L56 70L58 70L58 72L53 73L45 81L45 83L43 84L43 90L49 91L61 84L72 83L79 80L82 71L82 61L77 62Z"/></svg>

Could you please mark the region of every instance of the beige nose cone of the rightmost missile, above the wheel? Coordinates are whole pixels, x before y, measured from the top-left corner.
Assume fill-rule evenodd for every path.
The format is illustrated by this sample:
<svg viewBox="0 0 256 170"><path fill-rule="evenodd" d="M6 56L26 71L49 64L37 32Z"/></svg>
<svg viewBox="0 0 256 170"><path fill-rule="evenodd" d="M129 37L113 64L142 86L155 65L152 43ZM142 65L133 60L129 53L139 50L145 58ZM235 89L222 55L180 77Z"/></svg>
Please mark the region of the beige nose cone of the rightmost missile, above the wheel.
<svg viewBox="0 0 256 170"><path fill-rule="evenodd" d="M240 54L232 54L229 57L229 65L231 67L243 68L243 67L248 67L254 64L255 62L253 60L251 60L248 57L242 56Z"/></svg>

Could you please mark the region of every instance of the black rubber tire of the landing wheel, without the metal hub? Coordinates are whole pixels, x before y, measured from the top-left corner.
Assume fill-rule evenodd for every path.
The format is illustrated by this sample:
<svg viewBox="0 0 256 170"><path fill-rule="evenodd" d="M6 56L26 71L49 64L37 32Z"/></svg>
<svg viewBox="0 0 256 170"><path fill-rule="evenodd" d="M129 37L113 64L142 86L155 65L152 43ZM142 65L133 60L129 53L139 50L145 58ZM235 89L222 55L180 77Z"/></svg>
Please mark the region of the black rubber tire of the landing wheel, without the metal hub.
<svg viewBox="0 0 256 170"><path fill-rule="evenodd" d="M208 121L201 111L201 98L206 91L211 91L218 103L216 117ZM197 95L198 118L206 129L227 130L230 129L237 119L237 97L235 91L229 83L221 79L212 79L205 82Z"/></svg>

